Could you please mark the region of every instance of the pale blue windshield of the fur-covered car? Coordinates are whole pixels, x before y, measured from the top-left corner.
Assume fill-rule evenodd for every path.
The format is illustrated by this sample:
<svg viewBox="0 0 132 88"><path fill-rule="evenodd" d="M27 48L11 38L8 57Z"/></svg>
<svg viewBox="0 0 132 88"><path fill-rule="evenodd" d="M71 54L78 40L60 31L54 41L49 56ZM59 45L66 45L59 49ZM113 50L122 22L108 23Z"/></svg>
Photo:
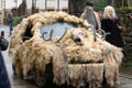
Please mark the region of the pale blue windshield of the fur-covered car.
<svg viewBox="0 0 132 88"><path fill-rule="evenodd" d="M47 40L51 37L51 32L53 31L52 37L55 37L55 36L61 37L63 36L66 30L70 30L72 28L74 28L74 24L66 23L66 22L56 22L50 25L44 25L41 29L41 34L42 34L42 37Z"/></svg>

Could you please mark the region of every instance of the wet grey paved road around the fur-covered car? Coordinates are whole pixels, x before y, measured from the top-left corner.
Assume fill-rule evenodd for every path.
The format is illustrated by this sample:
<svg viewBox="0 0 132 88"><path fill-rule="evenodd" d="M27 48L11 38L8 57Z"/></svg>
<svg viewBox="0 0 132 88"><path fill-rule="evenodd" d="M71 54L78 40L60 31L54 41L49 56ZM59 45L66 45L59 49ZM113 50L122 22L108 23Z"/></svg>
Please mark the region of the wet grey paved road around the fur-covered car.
<svg viewBox="0 0 132 88"><path fill-rule="evenodd" d="M10 40L9 35L9 28L6 25L0 25L0 31L6 32L6 36L8 40ZM28 82L22 79L13 78L13 70L11 66L11 59L9 58L8 50L6 52L2 52L4 56L4 63L8 69L8 74L12 84L12 88L38 88L32 82ZM130 78L127 75L121 75L120 76L121 85L119 88L132 88L132 78Z"/></svg>

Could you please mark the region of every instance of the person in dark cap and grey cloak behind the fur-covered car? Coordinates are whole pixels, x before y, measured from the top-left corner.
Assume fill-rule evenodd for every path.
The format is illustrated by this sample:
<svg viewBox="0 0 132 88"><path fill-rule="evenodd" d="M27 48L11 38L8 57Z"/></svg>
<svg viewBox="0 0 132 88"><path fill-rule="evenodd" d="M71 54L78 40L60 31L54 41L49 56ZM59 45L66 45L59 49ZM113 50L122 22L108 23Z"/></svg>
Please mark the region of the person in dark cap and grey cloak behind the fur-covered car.
<svg viewBox="0 0 132 88"><path fill-rule="evenodd" d="M92 24L96 30L101 28L100 14L94 11L94 2L88 1L84 13L80 15L81 19L87 20L88 23Z"/></svg>

